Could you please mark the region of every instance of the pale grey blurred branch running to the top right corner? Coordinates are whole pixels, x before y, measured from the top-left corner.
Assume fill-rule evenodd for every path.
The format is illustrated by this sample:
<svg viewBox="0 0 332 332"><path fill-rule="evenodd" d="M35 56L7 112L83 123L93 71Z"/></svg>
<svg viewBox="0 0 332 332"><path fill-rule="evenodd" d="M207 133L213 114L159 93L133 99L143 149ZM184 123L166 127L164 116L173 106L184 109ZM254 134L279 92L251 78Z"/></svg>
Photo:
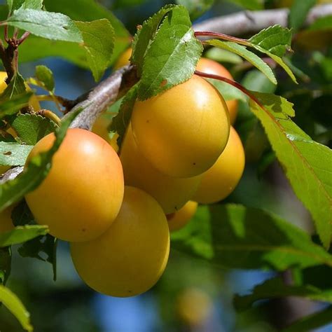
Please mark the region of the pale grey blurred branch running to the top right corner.
<svg viewBox="0 0 332 332"><path fill-rule="evenodd" d="M287 27L289 9L271 9L267 11L241 11L239 13L219 16L205 20L193 25L195 31L213 31L241 36L252 34L270 27L271 25L282 25ZM315 6L307 15L305 25L310 25L318 18L332 15L332 4Z"/></svg>

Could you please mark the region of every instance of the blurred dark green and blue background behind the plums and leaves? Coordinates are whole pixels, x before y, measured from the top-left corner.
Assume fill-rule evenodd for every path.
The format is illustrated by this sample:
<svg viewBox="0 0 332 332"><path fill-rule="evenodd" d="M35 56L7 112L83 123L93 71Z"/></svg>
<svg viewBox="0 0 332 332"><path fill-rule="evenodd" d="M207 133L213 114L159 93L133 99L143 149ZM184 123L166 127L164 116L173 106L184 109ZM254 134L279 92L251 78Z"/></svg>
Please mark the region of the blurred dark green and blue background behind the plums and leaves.
<svg viewBox="0 0 332 332"><path fill-rule="evenodd" d="M292 1L99 0L100 4L123 22L130 34L134 34L137 25L160 7L174 2L187 6L194 22L198 22L197 19L205 20L244 9L291 6ZM54 6L56 11L60 4L61 1L46 1L48 10ZM79 15L68 15L75 20L80 19ZM126 39L119 52L128 45L129 39ZM275 92L289 99L296 110L295 122L314 140L331 147L331 30L321 32L319 27L312 27L305 32L301 31L295 34L292 47L293 53L287 61L295 71L299 84L293 84L277 68L277 88L263 74L239 61L234 55L213 49L209 49L206 54L221 61L235 80L245 87L261 92ZM95 86L90 71L60 58L48 57L38 62L25 62L20 64L20 72L25 78L33 76L36 64L45 64L52 69L55 92L62 97L74 99ZM42 106L56 111L50 102L43 102ZM239 186L226 201L248 207L263 207L310 233L310 215L293 194L275 160L263 128L244 102L240 102L240 114L235 127L245 146L247 165ZM261 270L230 271L177 249L172 249L165 274L151 291L124 299L102 296L85 286L74 270L64 242L60 242L57 249L57 282L53 282L51 265L42 261L46 257L42 256L40 260L23 259L15 251L14 247L8 287L18 294L32 313L32 324L38 332L268 332L279 331L279 328L290 322L289 319L298 319L324 307L324 304L308 300L284 298L260 301L250 310L235 312L235 293L248 293L254 285L273 277L275 273ZM318 267L314 272L312 269L307 269L307 277L313 273L316 278L324 275L324 280L328 279L324 269L319 270ZM332 280L331 276L329 280ZM0 330L22 331L18 321L4 307L0 310ZM331 330L332 324L316 331Z"/></svg>

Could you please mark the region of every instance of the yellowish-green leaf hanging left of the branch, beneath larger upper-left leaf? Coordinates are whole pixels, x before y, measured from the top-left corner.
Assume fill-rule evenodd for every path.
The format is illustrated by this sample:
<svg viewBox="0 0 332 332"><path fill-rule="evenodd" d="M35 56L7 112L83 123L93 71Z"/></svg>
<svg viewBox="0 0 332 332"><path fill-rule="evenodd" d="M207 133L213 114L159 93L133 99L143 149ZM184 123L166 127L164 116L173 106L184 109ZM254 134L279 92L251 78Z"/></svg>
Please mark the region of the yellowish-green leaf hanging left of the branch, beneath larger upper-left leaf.
<svg viewBox="0 0 332 332"><path fill-rule="evenodd" d="M83 47L86 50L93 77L95 81L99 81L111 64L114 29L109 20L106 19L75 23L83 36Z"/></svg>

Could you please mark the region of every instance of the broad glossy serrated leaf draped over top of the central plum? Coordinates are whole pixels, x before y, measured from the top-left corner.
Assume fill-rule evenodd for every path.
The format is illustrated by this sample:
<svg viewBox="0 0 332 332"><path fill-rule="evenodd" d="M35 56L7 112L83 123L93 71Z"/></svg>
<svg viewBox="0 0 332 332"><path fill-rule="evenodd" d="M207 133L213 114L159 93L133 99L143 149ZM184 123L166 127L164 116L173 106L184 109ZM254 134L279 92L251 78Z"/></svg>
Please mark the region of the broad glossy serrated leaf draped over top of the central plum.
<svg viewBox="0 0 332 332"><path fill-rule="evenodd" d="M173 8L146 51L138 98L148 99L191 78L201 54L188 11Z"/></svg>

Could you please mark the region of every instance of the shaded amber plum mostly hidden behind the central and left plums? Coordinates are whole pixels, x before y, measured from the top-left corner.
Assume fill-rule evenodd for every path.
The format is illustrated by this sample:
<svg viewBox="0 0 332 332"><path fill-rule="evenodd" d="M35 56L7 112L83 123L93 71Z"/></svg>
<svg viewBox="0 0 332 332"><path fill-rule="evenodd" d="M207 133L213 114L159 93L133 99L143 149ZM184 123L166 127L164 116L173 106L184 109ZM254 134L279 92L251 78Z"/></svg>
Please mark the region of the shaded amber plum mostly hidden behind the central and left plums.
<svg viewBox="0 0 332 332"><path fill-rule="evenodd" d="M172 178L156 170L134 141L131 125L127 128L120 151L125 184L140 188L160 204L165 214L181 209L198 189L201 176Z"/></svg>

